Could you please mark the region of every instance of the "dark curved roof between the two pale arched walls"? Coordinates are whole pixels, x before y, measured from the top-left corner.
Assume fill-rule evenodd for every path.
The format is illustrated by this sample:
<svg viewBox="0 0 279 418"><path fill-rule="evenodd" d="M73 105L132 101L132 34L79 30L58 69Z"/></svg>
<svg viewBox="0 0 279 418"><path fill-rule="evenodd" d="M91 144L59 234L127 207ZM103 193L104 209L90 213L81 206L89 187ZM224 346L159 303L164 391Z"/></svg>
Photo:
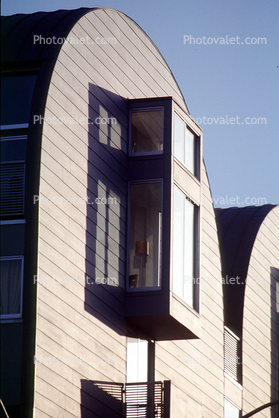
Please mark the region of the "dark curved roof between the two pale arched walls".
<svg viewBox="0 0 279 418"><path fill-rule="evenodd" d="M225 324L237 335L242 319L247 277L253 245L262 222L276 205L215 209L223 278L239 277L238 283L224 286Z"/></svg>

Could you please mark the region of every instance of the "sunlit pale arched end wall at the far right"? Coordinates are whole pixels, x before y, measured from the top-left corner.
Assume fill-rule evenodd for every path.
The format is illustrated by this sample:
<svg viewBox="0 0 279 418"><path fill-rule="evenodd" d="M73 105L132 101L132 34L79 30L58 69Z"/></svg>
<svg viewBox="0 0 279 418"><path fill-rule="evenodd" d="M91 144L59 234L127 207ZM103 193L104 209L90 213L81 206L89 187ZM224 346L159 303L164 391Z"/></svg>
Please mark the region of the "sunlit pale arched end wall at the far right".
<svg viewBox="0 0 279 418"><path fill-rule="evenodd" d="M279 398L279 206L265 216L251 251L245 285L243 412ZM277 416L274 406L265 416Z"/></svg>

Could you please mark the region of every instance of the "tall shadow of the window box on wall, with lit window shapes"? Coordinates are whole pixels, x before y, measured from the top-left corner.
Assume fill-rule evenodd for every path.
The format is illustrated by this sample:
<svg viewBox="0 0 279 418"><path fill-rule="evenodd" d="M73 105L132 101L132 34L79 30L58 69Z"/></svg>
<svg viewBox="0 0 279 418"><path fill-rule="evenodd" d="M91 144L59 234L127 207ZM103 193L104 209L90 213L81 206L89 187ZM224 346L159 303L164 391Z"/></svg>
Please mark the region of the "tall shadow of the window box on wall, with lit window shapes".
<svg viewBox="0 0 279 418"><path fill-rule="evenodd" d="M89 84L84 309L126 335L127 101Z"/></svg>

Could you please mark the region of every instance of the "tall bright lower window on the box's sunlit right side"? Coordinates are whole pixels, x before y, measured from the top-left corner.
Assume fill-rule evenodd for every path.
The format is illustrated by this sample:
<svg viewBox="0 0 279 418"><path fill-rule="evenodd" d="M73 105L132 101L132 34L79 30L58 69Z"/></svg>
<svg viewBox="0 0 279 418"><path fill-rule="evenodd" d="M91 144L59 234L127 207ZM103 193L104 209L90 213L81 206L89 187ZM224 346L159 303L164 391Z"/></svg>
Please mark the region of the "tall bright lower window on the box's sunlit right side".
<svg viewBox="0 0 279 418"><path fill-rule="evenodd" d="M173 194L173 292L194 307L195 205L174 186Z"/></svg>

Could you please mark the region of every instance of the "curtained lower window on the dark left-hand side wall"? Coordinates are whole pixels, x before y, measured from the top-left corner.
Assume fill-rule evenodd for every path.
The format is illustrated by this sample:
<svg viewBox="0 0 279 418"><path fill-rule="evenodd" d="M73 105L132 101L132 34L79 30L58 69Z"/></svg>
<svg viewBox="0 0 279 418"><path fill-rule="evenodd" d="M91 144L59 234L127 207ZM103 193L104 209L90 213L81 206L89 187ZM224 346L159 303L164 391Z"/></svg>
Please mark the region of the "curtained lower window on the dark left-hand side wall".
<svg viewBox="0 0 279 418"><path fill-rule="evenodd" d="M3 257L1 266L1 319L21 318L23 257Z"/></svg>

